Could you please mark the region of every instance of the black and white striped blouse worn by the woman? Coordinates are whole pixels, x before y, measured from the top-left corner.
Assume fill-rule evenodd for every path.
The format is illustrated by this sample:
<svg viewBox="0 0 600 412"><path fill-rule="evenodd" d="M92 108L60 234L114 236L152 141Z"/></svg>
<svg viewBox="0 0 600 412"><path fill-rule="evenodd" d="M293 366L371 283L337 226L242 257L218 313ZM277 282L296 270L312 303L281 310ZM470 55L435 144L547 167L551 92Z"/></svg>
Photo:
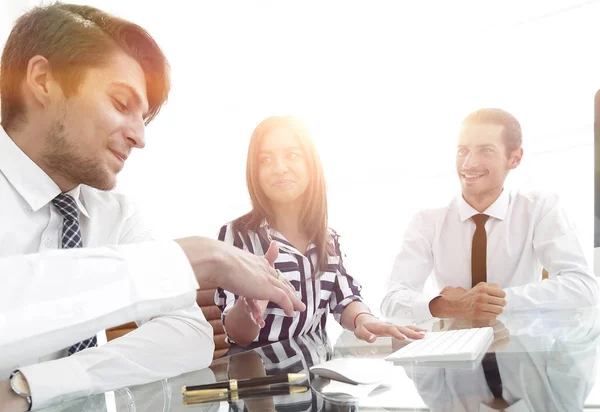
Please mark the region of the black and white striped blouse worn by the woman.
<svg viewBox="0 0 600 412"><path fill-rule="evenodd" d="M343 265L338 235L330 230L329 241L335 256L329 256L327 270L314 276L317 253L316 246L310 244L306 255L300 253L279 232L263 222L258 233L249 232L246 236L233 233L232 224L223 226L219 240L232 244L258 256L264 256L271 240L279 246L279 257L275 268L290 281L296 295L306 304L306 311L297 312L294 317L286 316L279 305L269 302L264 314L265 327L254 342L270 343L300 336L305 333L324 330L329 312L340 322L342 312L351 302L362 301L361 286L350 276ZM215 303L221 309L221 320L237 301L237 296L223 289L217 289ZM225 330L227 333L227 330Z"/></svg>

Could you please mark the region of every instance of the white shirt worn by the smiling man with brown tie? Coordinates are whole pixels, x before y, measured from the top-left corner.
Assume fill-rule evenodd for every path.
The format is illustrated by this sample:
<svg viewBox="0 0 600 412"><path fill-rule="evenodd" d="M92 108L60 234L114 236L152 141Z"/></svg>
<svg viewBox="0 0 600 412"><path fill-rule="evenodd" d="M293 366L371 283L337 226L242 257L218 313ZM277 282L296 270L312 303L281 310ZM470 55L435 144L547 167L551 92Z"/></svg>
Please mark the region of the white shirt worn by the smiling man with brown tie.
<svg viewBox="0 0 600 412"><path fill-rule="evenodd" d="M427 319L424 294L429 276L436 286L471 288L471 247L478 214L462 196L446 207L418 213L410 223L381 303L388 317ZM483 212L487 233L487 282L506 292L505 310L593 306L598 284L575 229L556 195L504 190ZM541 280L542 268L549 279Z"/></svg>

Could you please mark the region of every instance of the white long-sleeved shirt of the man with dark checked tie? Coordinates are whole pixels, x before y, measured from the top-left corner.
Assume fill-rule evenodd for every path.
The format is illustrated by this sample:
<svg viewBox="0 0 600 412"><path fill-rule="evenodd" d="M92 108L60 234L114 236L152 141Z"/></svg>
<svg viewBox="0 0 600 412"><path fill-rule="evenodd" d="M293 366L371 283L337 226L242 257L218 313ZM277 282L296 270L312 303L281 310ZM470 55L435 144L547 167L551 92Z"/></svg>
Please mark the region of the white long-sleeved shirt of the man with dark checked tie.
<svg viewBox="0 0 600 412"><path fill-rule="evenodd" d="M18 367L38 409L208 366L212 329L181 248L150 242L123 196L80 186L69 194L84 249L56 250L63 222L51 200L59 193L0 128L0 380ZM136 331L64 357L70 345L134 319Z"/></svg>

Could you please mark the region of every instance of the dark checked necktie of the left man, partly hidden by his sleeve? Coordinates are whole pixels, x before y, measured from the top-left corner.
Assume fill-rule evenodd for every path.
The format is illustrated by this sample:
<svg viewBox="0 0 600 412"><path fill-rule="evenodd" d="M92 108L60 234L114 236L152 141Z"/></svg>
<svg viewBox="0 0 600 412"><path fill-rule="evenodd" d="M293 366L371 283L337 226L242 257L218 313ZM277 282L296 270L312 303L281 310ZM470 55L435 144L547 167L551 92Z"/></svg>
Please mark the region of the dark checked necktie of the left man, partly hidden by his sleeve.
<svg viewBox="0 0 600 412"><path fill-rule="evenodd" d="M63 193L52 200L52 204L63 217L62 248L74 249L83 247L81 230L79 229L79 211L75 199ZM78 342L69 348L69 356L87 348L98 346L96 336Z"/></svg>

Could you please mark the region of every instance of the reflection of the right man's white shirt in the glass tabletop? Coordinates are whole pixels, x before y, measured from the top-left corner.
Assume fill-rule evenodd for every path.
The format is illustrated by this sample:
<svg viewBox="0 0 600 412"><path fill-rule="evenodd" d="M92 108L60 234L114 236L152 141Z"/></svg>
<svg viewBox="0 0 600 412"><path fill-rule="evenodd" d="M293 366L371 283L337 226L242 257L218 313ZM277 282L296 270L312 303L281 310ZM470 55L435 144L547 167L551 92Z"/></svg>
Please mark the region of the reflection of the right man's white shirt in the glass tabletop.
<svg viewBox="0 0 600 412"><path fill-rule="evenodd" d="M404 366L430 410L583 410L596 377L597 309L523 313L503 321L492 325L500 333L495 334L491 347L501 378L501 396L492 394L482 362L472 369ZM441 329L471 326L458 321L438 325Z"/></svg>

